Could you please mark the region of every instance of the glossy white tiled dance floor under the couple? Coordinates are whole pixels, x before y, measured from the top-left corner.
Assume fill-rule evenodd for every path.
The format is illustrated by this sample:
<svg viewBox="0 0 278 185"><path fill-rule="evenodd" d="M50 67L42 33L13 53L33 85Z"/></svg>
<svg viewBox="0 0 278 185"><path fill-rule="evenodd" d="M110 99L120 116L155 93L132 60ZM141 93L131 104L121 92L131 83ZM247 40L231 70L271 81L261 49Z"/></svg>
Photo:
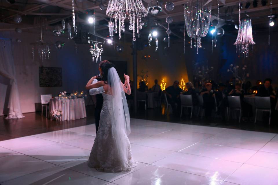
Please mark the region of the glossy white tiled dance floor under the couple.
<svg viewBox="0 0 278 185"><path fill-rule="evenodd" d="M93 124L1 141L0 184L278 184L277 134L140 119L131 124L139 162L133 171L87 166Z"/></svg>

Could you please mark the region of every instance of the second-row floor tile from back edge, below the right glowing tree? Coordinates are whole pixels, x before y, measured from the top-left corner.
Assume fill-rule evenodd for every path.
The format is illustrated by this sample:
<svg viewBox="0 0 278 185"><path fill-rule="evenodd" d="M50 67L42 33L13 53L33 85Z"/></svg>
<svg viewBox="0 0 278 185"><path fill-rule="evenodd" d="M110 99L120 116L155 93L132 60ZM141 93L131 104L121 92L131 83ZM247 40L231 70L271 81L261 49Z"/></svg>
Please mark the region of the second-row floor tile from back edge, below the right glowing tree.
<svg viewBox="0 0 278 185"><path fill-rule="evenodd" d="M179 130L170 130L170 131L164 132L162 134L158 134L156 136L199 142L199 141L202 141L206 138L213 136L213 134L202 134L202 133L197 133L197 132L183 132L183 131L179 131Z"/></svg>

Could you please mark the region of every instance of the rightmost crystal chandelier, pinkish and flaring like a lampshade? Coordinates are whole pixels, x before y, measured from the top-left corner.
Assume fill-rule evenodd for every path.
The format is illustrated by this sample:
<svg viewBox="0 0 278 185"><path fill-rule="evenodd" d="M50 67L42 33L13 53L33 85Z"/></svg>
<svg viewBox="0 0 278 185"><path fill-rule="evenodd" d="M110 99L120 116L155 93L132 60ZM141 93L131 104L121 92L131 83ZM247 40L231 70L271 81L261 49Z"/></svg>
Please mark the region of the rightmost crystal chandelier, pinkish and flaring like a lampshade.
<svg viewBox="0 0 278 185"><path fill-rule="evenodd" d="M252 34L252 23L250 18L242 19L238 28L237 40L234 45L237 46L238 56L248 57L249 45L255 45Z"/></svg>

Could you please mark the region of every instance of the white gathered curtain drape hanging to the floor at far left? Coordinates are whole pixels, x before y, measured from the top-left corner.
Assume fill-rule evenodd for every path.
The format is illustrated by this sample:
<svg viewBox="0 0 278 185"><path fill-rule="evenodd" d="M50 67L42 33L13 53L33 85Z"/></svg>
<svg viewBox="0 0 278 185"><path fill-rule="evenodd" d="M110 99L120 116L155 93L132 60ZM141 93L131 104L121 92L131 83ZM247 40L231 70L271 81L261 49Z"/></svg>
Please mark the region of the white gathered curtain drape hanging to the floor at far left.
<svg viewBox="0 0 278 185"><path fill-rule="evenodd" d="M14 58L10 40L0 40L0 75L10 79L9 113L6 119L25 118L21 112L17 80L15 78Z"/></svg>

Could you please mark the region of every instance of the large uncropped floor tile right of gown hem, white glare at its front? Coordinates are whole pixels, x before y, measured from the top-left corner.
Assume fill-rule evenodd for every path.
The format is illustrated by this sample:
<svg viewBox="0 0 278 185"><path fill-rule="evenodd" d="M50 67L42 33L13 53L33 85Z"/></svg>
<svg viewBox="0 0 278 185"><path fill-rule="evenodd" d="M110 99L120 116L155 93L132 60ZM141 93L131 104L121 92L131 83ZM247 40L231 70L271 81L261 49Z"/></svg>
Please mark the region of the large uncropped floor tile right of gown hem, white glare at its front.
<svg viewBox="0 0 278 185"><path fill-rule="evenodd" d="M154 162L153 165L225 180L238 169L242 163L177 152L169 157Z"/></svg>

